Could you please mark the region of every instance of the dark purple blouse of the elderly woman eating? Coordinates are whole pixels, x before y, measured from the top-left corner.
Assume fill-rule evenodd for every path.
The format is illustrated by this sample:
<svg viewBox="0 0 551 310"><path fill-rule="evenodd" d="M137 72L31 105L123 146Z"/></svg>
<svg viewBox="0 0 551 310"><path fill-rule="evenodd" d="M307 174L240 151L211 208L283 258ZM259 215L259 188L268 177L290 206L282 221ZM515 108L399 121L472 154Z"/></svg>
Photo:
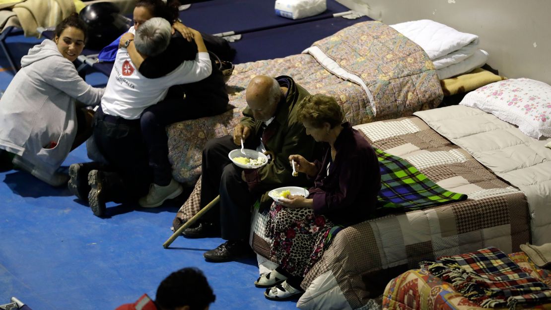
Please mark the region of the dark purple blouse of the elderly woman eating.
<svg viewBox="0 0 551 310"><path fill-rule="evenodd" d="M335 160L331 161L331 148L327 148L323 160L314 162L318 173L308 198L314 199L315 214L349 226L374 213L381 174L371 145L348 122L341 126L343 130L335 141Z"/></svg>

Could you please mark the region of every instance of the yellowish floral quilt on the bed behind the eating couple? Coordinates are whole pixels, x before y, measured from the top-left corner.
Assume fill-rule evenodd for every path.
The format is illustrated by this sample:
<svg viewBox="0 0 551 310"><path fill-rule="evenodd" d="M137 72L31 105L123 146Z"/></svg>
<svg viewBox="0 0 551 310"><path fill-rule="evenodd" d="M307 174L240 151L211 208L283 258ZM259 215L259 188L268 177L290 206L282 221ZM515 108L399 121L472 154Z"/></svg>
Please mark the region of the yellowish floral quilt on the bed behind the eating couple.
<svg viewBox="0 0 551 310"><path fill-rule="evenodd" d="M208 139L231 133L246 106L245 88L255 75L289 75L311 94L333 96L353 125L411 115L434 108L442 100L440 82L426 54L385 24L358 23L314 44L345 72L358 76L368 91L333 74L308 54L237 64L227 83L230 110L166 128L174 178L195 184L201 173L204 145Z"/></svg>

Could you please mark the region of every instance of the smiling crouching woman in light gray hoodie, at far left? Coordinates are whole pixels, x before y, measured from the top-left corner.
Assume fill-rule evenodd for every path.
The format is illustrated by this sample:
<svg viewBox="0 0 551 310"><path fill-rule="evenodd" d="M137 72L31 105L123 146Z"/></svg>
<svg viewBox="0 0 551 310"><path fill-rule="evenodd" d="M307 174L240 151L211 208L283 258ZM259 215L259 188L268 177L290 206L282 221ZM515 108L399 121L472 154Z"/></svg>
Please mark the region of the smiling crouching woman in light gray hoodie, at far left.
<svg viewBox="0 0 551 310"><path fill-rule="evenodd" d="M42 41L21 58L21 70L0 99L0 151L14 154L15 166L52 186L67 183L68 176L56 170L87 138L81 132L91 134L82 130L91 110L77 113L75 101L97 105L104 93L88 85L73 64L85 40L86 25L78 15L64 19L53 41Z"/></svg>

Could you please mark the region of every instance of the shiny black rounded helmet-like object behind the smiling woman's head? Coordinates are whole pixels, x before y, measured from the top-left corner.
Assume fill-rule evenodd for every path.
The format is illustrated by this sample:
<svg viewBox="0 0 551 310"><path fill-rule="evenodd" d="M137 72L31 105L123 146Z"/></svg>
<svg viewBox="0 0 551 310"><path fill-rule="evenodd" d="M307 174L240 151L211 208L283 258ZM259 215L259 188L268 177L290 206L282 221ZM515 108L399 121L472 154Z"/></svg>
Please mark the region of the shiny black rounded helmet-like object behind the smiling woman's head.
<svg viewBox="0 0 551 310"><path fill-rule="evenodd" d="M87 48L101 50L130 28L132 20L119 12L111 2L92 3L80 11L80 18L88 25Z"/></svg>

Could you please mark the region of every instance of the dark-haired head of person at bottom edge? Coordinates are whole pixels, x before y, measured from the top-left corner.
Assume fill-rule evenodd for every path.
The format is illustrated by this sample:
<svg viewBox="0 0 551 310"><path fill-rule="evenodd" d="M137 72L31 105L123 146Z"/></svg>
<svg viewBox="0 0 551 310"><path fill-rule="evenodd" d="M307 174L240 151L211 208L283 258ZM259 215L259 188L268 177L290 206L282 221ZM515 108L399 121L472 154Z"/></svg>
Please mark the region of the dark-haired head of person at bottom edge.
<svg viewBox="0 0 551 310"><path fill-rule="evenodd" d="M183 268L159 284L155 303L162 310L205 310L215 299L201 270Z"/></svg>

